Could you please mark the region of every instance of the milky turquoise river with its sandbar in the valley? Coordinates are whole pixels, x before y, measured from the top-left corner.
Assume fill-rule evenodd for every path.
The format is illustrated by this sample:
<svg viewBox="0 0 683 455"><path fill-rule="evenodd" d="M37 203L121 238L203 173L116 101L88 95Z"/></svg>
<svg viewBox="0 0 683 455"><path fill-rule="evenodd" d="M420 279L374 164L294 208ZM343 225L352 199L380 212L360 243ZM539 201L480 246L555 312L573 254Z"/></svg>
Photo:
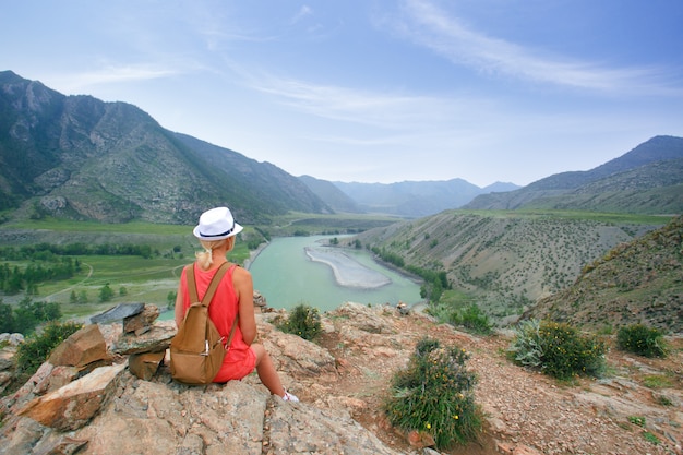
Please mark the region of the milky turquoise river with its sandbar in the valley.
<svg viewBox="0 0 683 455"><path fill-rule="evenodd" d="M325 247L339 236L273 239L249 265L254 289L271 308L291 309L304 303L320 311L345 302L392 306L420 302L420 286L376 263L369 252Z"/></svg>

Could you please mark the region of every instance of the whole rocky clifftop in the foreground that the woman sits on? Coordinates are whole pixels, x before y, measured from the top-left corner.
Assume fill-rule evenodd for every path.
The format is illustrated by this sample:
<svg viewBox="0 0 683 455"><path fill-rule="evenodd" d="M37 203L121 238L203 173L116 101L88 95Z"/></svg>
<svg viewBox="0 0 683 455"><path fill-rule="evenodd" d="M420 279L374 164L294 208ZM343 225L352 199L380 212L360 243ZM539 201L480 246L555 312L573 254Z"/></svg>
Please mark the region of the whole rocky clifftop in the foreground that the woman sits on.
<svg viewBox="0 0 683 455"><path fill-rule="evenodd" d="M381 410L392 374L428 335L471 352L487 421L479 441L443 453L681 453L681 339L670 339L669 359L611 351L610 378L558 384L510 363L504 333L474 337L419 313L347 303L323 314L310 343L276 330L277 314L257 315L261 342L301 403L271 396L254 374L176 384L163 360L172 323L100 322L2 400L0 454L436 454ZM92 369L101 361L110 364Z"/></svg>

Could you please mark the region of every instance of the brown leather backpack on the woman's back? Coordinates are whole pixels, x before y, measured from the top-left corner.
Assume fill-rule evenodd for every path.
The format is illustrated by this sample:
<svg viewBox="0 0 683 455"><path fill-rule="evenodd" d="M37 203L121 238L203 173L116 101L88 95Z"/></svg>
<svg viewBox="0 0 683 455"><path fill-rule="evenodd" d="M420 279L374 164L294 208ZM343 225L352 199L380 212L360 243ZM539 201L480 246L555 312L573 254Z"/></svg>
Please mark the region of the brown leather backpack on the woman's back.
<svg viewBox="0 0 683 455"><path fill-rule="evenodd" d="M230 264L226 262L216 271L201 302L196 292L194 264L185 267L188 292L190 292L192 303L185 312L178 333L171 339L170 371L175 381L191 385L209 384L223 366L223 359L237 328L239 314L235 318L226 342L208 318L208 306L229 266Z"/></svg>

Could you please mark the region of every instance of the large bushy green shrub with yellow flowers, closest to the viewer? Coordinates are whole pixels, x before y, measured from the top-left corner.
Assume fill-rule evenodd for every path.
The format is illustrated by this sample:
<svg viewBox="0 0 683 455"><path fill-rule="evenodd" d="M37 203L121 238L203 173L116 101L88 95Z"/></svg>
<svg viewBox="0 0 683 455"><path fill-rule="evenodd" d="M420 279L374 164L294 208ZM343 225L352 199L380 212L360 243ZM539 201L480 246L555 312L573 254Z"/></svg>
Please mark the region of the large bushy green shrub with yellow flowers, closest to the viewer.
<svg viewBox="0 0 683 455"><path fill-rule="evenodd" d="M408 367L392 380L384 403L390 422L404 431L431 434L438 448L475 439L482 418L475 404L476 376L465 368L468 358L458 347L420 340Z"/></svg>

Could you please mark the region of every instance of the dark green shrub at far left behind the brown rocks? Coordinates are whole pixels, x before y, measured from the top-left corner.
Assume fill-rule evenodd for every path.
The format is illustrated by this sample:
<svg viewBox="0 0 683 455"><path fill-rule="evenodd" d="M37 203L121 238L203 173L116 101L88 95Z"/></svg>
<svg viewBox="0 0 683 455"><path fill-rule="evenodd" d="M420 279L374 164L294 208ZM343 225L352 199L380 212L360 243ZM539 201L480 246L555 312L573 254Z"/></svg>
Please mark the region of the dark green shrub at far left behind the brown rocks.
<svg viewBox="0 0 683 455"><path fill-rule="evenodd" d="M64 339L83 327L75 322L50 322L45 325L40 334L34 334L16 349L16 371L21 375L33 375L45 362L52 349Z"/></svg>

